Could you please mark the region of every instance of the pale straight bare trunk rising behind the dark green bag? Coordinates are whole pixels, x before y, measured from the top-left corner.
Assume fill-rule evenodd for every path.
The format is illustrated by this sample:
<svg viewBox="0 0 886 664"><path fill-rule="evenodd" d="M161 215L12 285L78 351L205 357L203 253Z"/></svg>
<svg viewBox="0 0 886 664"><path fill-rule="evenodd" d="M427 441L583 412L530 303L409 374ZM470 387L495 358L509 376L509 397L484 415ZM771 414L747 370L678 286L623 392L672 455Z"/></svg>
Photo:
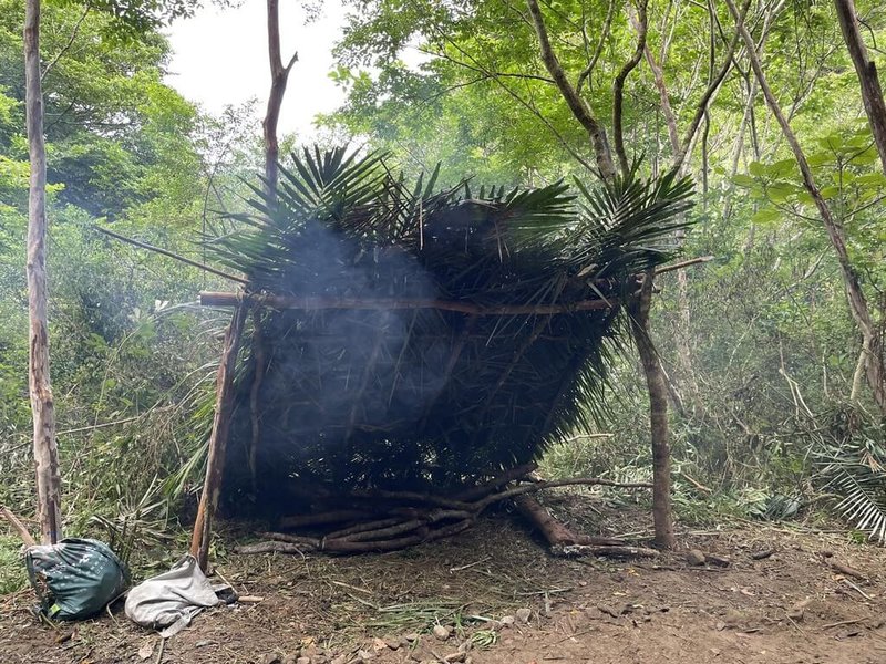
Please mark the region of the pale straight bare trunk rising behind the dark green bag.
<svg viewBox="0 0 886 664"><path fill-rule="evenodd" d="M55 409L49 375L47 323L47 149L43 142L43 91L40 85L40 0L24 9L24 76L28 144L31 160L28 198L29 386L34 421L37 517L40 539L62 538L61 475L55 443Z"/></svg>

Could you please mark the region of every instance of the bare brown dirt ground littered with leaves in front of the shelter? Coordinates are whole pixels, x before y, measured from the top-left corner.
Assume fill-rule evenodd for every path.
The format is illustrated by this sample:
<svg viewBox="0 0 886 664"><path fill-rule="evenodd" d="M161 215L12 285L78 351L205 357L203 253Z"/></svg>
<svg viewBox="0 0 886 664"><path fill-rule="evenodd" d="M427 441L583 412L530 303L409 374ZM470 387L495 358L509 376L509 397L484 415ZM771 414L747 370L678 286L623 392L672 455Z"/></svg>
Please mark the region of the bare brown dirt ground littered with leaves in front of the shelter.
<svg viewBox="0 0 886 664"><path fill-rule="evenodd" d="M606 536L649 521L571 494L548 505ZM121 611L49 626L22 590L0 598L0 662L886 662L886 550L763 522L682 529L679 540L655 560L560 559L497 515L395 553L223 556L218 575L260 601L206 611L163 645ZM690 548L729 564L692 566ZM449 636L434 635L436 625Z"/></svg>

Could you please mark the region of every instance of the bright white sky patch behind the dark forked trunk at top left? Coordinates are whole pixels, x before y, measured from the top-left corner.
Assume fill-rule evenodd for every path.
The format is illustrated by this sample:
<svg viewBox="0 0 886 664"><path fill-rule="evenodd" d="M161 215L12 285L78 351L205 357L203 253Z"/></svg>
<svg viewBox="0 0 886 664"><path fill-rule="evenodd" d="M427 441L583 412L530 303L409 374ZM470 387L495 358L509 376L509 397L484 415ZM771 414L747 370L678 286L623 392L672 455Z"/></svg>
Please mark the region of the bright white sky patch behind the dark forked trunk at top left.
<svg viewBox="0 0 886 664"><path fill-rule="evenodd" d="M342 101L327 74L344 11L334 0L323 4L321 18L306 25L301 2L280 2L284 64L293 51L299 56L289 74L280 133L306 137L313 116ZM264 115L270 87L265 11L265 0L244 0L239 8L226 10L207 3L194 18L177 21L168 31L174 55L167 83L212 113L257 97Z"/></svg>

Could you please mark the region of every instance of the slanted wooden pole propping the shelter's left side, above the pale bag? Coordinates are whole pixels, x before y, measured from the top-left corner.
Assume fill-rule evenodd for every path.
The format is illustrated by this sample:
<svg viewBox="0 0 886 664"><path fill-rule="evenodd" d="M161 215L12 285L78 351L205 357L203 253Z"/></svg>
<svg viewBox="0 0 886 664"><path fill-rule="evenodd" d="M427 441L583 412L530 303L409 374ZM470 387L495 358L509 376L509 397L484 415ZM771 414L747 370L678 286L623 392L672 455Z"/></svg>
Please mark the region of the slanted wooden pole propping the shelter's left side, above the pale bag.
<svg viewBox="0 0 886 664"><path fill-rule="evenodd" d="M234 311L227 332L225 347L218 363L216 374L215 416L213 433L209 436L209 449L206 456L206 476L203 481L200 505L194 532L190 537L190 554L197 559L200 569L206 571L209 563L209 543L212 542L213 518L218 508L218 496L222 490L222 476L225 471L225 453L227 452L230 414L234 405L234 370L237 364L237 352L240 349L243 325L246 319L247 304L240 302Z"/></svg>

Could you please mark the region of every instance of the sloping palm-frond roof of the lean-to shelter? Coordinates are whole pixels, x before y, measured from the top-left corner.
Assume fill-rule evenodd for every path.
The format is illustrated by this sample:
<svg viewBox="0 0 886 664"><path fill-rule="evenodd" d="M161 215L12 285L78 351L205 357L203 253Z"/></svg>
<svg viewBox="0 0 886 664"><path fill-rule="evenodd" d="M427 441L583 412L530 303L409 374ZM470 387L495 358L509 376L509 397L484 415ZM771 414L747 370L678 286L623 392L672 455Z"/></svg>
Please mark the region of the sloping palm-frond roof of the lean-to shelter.
<svg viewBox="0 0 886 664"><path fill-rule="evenodd" d="M380 154L306 149L272 193L254 188L254 212L233 216L233 232L208 240L250 293L351 303L255 319L235 480L248 457L259 473L333 487L461 485L605 412L620 303L673 255L689 180L436 181L437 170L408 181ZM440 301L475 313L395 305ZM588 302L600 305L577 307Z"/></svg>

